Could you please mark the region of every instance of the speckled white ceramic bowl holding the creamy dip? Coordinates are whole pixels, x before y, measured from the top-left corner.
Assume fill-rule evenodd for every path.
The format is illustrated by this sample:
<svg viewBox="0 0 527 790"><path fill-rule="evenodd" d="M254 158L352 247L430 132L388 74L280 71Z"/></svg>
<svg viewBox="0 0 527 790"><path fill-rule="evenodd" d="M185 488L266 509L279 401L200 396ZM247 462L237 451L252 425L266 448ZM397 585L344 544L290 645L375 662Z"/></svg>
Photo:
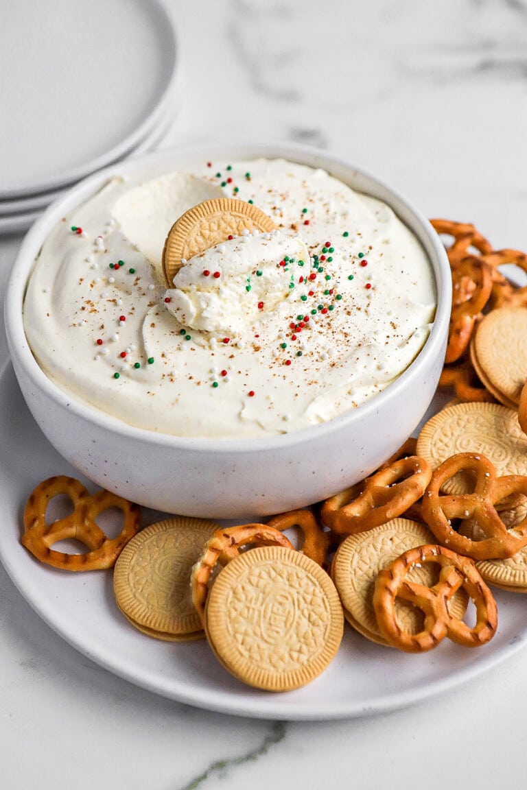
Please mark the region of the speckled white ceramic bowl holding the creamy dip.
<svg viewBox="0 0 527 790"><path fill-rule="evenodd" d="M420 239L431 261L438 305L420 354L382 393L327 423L271 438L179 438L130 427L80 403L36 363L22 322L33 261L51 228L110 175L147 179L204 160L284 157L322 167L354 189L385 201ZM85 179L51 205L22 243L6 292L13 367L32 415L53 446L100 486L142 505L213 518L264 517L326 498L371 473L412 433L435 393L446 348L451 281L442 243L399 194L352 164L297 145L174 149L115 165Z"/></svg>

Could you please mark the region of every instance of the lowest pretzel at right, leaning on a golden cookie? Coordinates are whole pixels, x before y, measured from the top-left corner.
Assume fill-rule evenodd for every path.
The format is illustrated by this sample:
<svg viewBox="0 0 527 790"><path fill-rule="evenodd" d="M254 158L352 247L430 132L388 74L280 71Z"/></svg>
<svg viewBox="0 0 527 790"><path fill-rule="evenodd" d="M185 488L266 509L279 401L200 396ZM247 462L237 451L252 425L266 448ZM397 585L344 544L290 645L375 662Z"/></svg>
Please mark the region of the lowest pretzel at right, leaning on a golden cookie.
<svg viewBox="0 0 527 790"><path fill-rule="evenodd" d="M432 562L441 569L435 585L427 587L408 580L412 566ZM461 588L476 606L476 623L472 627L449 611L450 600ZM408 634L398 625L396 600L405 600L423 611L423 630L419 634ZM474 562L442 546L409 549L381 570L375 580L373 605L379 630L386 641L407 653L423 653L445 637L458 645L478 647L494 636L498 625L495 600Z"/></svg>

